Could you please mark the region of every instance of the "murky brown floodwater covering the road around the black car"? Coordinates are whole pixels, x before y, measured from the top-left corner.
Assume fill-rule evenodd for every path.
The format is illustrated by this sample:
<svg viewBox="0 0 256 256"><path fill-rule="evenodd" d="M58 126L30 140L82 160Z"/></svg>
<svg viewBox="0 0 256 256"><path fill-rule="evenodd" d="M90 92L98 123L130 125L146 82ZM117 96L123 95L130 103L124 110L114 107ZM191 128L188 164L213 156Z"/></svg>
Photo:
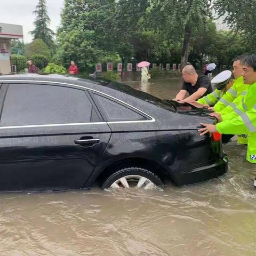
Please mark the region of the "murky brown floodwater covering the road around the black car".
<svg viewBox="0 0 256 256"><path fill-rule="evenodd" d="M179 79L124 81L173 98ZM1 256L255 255L256 167L245 146L225 146L230 170L164 190L0 194Z"/></svg>

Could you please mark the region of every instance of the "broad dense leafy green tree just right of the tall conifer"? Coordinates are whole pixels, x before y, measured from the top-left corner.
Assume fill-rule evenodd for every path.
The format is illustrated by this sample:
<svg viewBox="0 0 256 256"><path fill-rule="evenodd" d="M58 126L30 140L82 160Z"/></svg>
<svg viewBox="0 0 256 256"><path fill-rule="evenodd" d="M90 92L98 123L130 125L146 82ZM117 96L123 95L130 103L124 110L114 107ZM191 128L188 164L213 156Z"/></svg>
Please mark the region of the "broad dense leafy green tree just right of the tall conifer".
<svg viewBox="0 0 256 256"><path fill-rule="evenodd" d="M74 60L79 69L94 64L113 51L114 41L108 33L115 0L66 0L58 29L58 59L68 67Z"/></svg>

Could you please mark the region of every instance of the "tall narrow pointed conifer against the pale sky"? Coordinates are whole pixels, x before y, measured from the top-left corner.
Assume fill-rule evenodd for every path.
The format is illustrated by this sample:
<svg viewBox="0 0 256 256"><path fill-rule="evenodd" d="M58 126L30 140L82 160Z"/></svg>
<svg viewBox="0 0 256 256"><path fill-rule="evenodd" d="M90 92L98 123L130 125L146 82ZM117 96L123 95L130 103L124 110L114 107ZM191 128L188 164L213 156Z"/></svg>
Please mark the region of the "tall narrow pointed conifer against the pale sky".
<svg viewBox="0 0 256 256"><path fill-rule="evenodd" d="M39 0L33 13L36 15L35 29L30 31L30 34L34 36L34 39L42 39L47 46L53 47L54 33L48 27L51 20L47 14L46 0Z"/></svg>

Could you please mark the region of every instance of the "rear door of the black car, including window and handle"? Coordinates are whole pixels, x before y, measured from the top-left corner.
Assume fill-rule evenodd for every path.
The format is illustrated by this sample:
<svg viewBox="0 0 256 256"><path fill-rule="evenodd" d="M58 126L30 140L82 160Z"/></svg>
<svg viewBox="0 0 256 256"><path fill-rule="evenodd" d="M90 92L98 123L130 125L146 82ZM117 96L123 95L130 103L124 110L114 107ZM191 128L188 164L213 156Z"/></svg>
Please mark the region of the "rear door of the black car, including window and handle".
<svg viewBox="0 0 256 256"><path fill-rule="evenodd" d="M82 188L111 135L89 93L21 82L0 95L0 190Z"/></svg>

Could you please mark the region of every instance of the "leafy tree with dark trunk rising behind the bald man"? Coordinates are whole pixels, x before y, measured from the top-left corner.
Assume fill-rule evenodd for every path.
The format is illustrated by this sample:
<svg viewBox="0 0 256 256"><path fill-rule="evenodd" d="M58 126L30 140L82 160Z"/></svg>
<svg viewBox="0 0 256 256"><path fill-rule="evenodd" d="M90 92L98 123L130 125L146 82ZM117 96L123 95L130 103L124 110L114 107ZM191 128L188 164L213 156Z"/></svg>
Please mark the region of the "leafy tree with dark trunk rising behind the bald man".
<svg viewBox="0 0 256 256"><path fill-rule="evenodd" d="M206 24L211 0L151 0L150 20L166 39L183 38L181 64L188 61L191 37Z"/></svg>

